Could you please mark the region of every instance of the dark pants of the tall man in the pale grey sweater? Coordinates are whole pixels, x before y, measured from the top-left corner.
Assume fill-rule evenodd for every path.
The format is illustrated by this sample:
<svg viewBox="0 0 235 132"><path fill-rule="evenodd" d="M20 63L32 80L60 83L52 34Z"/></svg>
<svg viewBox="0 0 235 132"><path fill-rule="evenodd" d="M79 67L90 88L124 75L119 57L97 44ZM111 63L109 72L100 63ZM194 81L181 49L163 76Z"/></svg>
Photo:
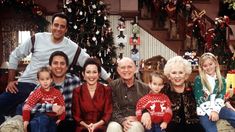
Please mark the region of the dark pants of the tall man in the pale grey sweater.
<svg viewBox="0 0 235 132"><path fill-rule="evenodd" d="M25 101L35 87L33 83L18 82L16 94L9 92L0 94L0 124L4 121L4 116L15 114L16 107Z"/></svg>

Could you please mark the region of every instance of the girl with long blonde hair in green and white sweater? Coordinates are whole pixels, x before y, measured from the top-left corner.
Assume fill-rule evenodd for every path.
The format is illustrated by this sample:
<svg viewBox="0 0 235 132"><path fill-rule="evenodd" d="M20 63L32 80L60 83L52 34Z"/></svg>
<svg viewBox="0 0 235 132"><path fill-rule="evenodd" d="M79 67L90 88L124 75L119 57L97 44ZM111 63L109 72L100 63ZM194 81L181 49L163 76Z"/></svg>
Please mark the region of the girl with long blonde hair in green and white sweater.
<svg viewBox="0 0 235 132"><path fill-rule="evenodd" d="M224 107L225 79L212 53L199 59L199 76L195 78L194 94L200 123L207 132L217 132L216 121L225 119L235 127L235 112Z"/></svg>

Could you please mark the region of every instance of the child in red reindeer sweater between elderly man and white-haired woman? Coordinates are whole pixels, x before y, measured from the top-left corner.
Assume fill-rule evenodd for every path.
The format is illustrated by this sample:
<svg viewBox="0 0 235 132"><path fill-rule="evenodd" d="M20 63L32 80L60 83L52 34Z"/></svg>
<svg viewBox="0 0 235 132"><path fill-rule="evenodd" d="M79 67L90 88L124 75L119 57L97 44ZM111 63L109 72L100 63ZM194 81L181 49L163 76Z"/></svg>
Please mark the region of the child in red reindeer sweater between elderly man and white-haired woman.
<svg viewBox="0 0 235 132"><path fill-rule="evenodd" d="M171 102L165 94L160 93L164 87L165 76L160 72L153 72L150 75L149 87L151 91L138 101L136 115L140 121L142 111L147 110L152 121L152 128L148 132L161 132L167 128L167 124L171 121Z"/></svg>

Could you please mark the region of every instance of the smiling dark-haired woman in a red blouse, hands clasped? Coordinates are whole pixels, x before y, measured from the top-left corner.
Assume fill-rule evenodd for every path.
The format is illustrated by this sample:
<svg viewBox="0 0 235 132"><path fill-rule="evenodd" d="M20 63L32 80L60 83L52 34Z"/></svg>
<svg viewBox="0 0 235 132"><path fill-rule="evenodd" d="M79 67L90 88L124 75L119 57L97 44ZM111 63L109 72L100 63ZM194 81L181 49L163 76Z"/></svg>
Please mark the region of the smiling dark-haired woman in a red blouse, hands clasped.
<svg viewBox="0 0 235 132"><path fill-rule="evenodd" d="M76 132L105 132L112 114L111 88L98 82L101 67L96 59L87 59L83 68L85 83L73 91Z"/></svg>

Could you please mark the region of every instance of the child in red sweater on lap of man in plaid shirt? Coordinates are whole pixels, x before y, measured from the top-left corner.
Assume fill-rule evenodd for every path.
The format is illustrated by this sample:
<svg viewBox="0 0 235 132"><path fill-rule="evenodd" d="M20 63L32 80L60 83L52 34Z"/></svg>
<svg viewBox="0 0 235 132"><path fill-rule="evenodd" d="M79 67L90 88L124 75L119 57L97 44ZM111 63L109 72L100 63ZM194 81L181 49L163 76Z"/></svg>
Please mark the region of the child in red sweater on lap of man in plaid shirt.
<svg viewBox="0 0 235 132"><path fill-rule="evenodd" d="M25 131L27 131L31 110L37 103L57 104L65 107L64 98L61 92L54 87L51 87L53 80L49 67L42 67L37 73L37 79L40 87L30 94L23 107L23 121ZM56 124L59 124L59 122L65 118L65 112L63 112L62 115L59 115L59 118L57 118L56 113L53 112L48 112L46 115L52 119L50 120L52 122L50 125L48 125L48 130L50 129L51 132L56 131ZM37 116L37 114L35 116ZM31 132L34 132L35 129L37 128L31 127Z"/></svg>

